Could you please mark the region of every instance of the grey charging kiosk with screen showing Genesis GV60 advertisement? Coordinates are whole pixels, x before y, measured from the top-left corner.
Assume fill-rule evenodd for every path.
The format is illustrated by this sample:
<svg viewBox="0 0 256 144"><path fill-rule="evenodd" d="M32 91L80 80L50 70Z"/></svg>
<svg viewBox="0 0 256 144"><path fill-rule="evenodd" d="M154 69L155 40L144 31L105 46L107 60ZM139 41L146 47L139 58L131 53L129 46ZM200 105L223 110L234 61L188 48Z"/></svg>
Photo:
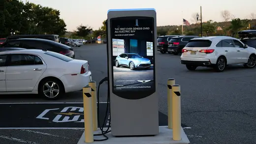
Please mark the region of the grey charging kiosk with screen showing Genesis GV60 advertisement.
<svg viewBox="0 0 256 144"><path fill-rule="evenodd" d="M113 136L159 134L155 9L107 13L108 78Z"/></svg>

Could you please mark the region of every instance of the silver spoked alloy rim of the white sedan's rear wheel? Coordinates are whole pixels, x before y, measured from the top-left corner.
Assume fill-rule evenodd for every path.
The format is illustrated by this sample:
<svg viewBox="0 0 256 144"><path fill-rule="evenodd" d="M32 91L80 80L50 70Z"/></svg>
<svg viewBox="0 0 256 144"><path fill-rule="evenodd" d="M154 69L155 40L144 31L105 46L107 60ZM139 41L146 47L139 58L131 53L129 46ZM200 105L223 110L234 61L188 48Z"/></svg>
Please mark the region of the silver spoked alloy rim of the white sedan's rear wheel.
<svg viewBox="0 0 256 144"><path fill-rule="evenodd" d="M55 82L47 82L43 85L43 94L49 98L55 98L60 92L60 86Z"/></svg>

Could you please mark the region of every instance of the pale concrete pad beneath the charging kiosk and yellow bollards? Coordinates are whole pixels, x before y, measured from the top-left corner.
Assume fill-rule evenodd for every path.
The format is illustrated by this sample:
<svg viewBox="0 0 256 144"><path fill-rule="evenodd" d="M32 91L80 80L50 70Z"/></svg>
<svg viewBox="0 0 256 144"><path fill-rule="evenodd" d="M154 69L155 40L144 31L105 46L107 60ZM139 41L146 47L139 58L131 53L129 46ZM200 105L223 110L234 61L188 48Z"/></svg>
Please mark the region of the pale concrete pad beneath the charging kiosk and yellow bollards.
<svg viewBox="0 0 256 144"><path fill-rule="evenodd" d="M104 128L106 130L106 128ZM109 129L111 130L111 129ZM95 131L94 134L100 134L100 130ZM172 140L172 129L168 129L167 126L159 127L159 134L151 137L114 137L111 132L106 134L109 138L106 141L94 142L91 144L190 144L190 141L181 127L181 140ZM94 139L104 139L103 136L94 136ZM85 133L78 141L77 144L89 144L85 143Z"/></svg>

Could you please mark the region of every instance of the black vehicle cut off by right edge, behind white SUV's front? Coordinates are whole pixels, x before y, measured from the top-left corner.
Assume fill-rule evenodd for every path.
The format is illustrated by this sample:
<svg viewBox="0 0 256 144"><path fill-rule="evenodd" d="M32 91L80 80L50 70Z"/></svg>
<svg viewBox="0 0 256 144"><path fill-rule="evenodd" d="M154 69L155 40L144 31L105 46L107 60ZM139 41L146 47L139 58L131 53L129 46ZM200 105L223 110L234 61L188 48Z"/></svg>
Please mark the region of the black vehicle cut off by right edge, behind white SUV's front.
<svg viewBox="0 0 256 144"><path fill-rule="evenodd" d="M256 48L256 30L242 30L238 31L241 41L249 47Z"/></svg>

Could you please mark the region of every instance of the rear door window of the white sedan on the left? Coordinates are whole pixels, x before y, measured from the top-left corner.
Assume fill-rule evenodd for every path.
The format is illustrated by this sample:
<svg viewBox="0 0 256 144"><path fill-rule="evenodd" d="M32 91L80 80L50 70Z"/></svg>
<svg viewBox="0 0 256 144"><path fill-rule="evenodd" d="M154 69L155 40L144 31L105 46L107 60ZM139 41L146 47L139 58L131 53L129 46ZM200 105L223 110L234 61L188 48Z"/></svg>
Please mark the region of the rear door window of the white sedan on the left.
<svg viewBox="0 0 256 144"><path fill-rule="evenodd" d="M43 64L42 60L34 55L12 54L8 66Z"/></svg>

